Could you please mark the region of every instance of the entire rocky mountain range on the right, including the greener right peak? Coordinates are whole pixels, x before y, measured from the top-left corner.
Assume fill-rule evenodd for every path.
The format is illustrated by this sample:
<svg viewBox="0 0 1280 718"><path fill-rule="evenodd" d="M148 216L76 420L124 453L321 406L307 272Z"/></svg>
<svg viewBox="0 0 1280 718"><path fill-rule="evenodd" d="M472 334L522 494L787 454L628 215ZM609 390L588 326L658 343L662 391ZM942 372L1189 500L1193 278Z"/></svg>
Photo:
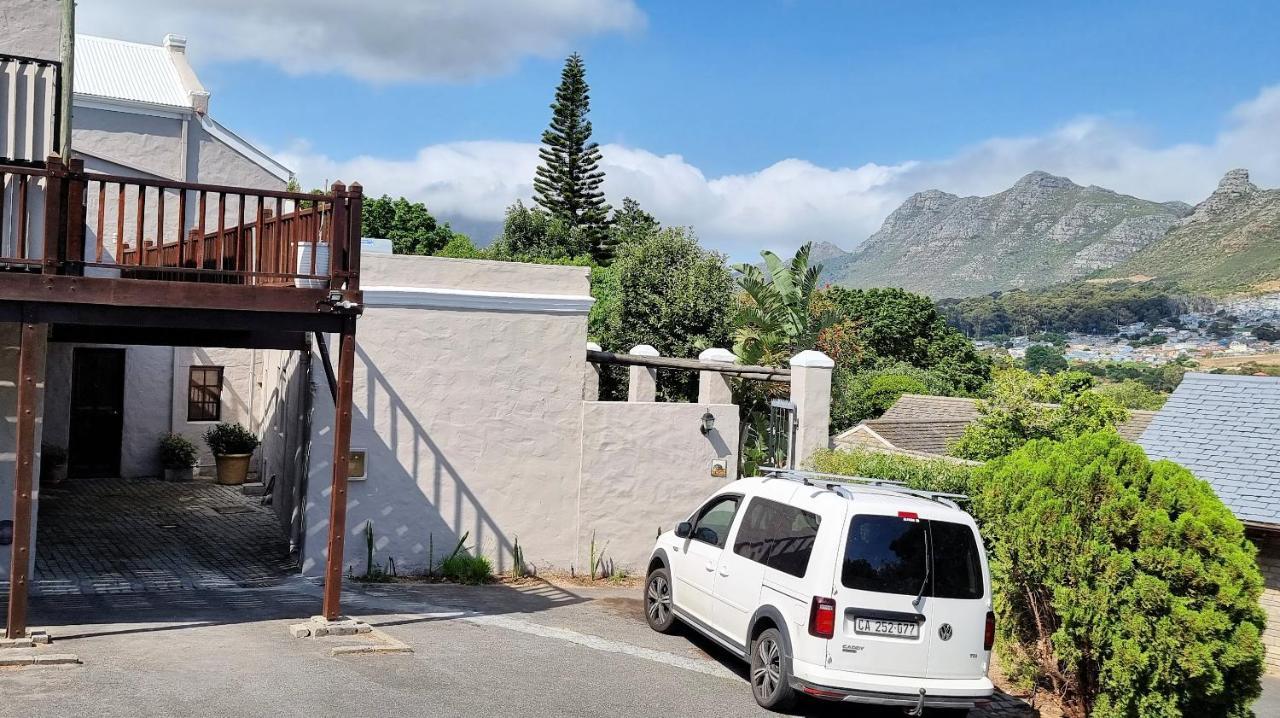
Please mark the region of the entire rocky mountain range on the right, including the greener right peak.
<svg viewBox="0 0 1280 718"><path fill-rule="evenodd" d="M1231 291L1280 279L1280 189L1231 170L1207 200L1153 202L1033 172L1004 192L909 197L861 246L817 244L823 279L933 297L1082 278L1170 278Z"/></svg>

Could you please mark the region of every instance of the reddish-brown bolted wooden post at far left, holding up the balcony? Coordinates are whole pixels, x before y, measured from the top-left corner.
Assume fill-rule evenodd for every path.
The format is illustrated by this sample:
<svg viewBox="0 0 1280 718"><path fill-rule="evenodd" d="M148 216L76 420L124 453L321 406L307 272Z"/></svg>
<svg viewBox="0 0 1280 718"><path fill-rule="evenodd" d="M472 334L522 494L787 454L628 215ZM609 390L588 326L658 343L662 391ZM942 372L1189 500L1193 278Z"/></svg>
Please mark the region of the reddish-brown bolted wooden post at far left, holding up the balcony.
<svg viewBox="0 0 1280 718"><path fill-rule="evenodd" d="M24 321L18 349L18 426L13 491L13 553L9 558L10 639L27 635L27 572L31 566L31 498L36 466L36 394L45 363L47 325Z"/></svg>

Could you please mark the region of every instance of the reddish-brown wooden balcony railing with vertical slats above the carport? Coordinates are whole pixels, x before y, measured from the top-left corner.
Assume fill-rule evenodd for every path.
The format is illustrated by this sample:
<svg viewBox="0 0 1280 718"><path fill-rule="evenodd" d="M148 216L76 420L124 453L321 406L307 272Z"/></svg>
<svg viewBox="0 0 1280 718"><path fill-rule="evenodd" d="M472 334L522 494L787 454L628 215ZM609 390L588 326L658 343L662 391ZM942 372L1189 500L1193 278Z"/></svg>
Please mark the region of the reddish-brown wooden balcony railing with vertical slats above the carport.
<svg viewBox="0 0 1280 718"><path fill-rule="evenodd" d="M357 289L362 191L305 195L0 165L0 269Z"/></svg>

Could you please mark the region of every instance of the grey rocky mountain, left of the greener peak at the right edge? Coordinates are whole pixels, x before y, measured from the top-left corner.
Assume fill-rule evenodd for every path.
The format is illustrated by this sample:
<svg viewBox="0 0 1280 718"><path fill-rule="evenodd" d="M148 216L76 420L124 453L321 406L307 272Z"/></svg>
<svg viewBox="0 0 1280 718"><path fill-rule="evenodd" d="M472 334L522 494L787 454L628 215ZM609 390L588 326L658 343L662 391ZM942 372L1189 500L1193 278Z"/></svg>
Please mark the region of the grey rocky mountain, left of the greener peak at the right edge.
<svg viewBox="0 0 1280 718"><path fill-rule="evenodd" d="M909 197L858 250L824 264L851 287L964 297L1069 282L1111 267L1192 212L1033 172L1004 192Z"/></svg>

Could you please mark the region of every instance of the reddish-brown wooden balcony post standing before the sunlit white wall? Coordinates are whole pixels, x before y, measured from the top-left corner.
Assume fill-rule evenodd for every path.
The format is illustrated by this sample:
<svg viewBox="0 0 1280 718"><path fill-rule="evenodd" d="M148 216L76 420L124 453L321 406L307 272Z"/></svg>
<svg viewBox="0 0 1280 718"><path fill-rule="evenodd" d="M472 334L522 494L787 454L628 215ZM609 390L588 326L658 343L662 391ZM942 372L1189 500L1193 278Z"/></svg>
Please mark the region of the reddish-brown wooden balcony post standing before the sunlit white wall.
<svg viewBox="0 0 1280 718"><path fill-rule="evenodd" d="M338 401L333 413L333 490L329 491L329 557L324 607L329 621L342 616L342 563L347 538L347 472L351 468L351 402L356 372L356 317L347 317L338 348Z"/></svg>

